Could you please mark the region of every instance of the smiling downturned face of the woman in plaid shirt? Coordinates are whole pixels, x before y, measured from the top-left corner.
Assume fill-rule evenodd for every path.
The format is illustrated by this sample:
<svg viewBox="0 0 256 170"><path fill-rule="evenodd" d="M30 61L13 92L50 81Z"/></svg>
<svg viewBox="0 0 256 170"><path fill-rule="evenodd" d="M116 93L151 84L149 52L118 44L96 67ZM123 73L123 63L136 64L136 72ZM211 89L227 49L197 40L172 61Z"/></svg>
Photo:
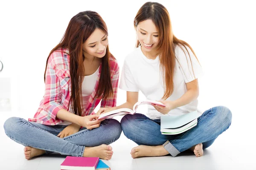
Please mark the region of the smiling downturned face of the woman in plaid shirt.
<svg viewBox="0 0 256 170"><path fill-rule="evenodd" d="M96 28L83 44L84 56L86 58L102 58L106 54L107 45L107 34L99 28Z"/></svg>

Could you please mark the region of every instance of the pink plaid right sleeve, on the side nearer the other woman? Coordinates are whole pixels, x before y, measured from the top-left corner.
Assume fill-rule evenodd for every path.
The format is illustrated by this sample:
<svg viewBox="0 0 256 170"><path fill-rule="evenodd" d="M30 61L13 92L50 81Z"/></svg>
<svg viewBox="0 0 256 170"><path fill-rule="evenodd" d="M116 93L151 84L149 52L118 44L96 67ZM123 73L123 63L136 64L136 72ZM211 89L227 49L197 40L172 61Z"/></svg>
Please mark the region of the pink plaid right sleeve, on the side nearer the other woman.
<svg viewBox="0 0 256 170"><path fill-rule="evenodd" d="M111 83L113 88L113 96L108 99L102 99L101 108L111 108L116 106L116 97L119 81L119 65L116 60L112 60L112 69L111 69Z"/></svg>

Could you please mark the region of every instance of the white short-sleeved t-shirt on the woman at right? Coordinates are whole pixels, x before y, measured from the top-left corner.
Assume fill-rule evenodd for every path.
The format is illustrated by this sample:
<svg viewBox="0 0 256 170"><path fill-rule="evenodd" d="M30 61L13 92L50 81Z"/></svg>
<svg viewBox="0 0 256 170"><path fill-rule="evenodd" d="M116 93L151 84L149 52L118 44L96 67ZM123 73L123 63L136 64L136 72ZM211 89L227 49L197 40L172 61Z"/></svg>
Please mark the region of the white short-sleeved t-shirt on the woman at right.
<svg viewBox="0 0 256 170"><path fill-rule="evenodd" d="M171 96L166 100L179 99L186 93L186 83L197 79L203 73L201 65L196 59L192 51L187 47L189 55L186 49L183 50L176 45L175 56L175 68L174 68L174 90ZM180 63L180 64L179 64ZM120 79L119 88L125 91L138 92L141 91L145 97L149 100L161 100L164 94L163 76L160 69L159 56L156 59L148 59L141 51L141 47L136 48L133 52L125 57L124 65L122 68L122 74ZM191 111L198 111L198 99L190 102L187 105L175 108L171 110L169 115L182 115ZM162 113L158 112L153 106L148 105L148 117L150 119L160 119Z"/></svg>

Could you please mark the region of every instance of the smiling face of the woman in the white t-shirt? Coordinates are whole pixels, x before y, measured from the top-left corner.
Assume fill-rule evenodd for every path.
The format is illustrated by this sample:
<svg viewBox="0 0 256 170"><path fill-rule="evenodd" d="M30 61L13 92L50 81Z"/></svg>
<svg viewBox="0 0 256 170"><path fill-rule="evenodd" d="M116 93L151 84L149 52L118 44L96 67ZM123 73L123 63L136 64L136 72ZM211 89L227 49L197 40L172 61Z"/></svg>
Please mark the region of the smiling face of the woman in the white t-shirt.
<svg viewBox="0 0 256 170"><path fill-rule="evenodd" d="M159 33L152 20L144 20L137 25L137 39L145 52L156 51Z"/></svg>

